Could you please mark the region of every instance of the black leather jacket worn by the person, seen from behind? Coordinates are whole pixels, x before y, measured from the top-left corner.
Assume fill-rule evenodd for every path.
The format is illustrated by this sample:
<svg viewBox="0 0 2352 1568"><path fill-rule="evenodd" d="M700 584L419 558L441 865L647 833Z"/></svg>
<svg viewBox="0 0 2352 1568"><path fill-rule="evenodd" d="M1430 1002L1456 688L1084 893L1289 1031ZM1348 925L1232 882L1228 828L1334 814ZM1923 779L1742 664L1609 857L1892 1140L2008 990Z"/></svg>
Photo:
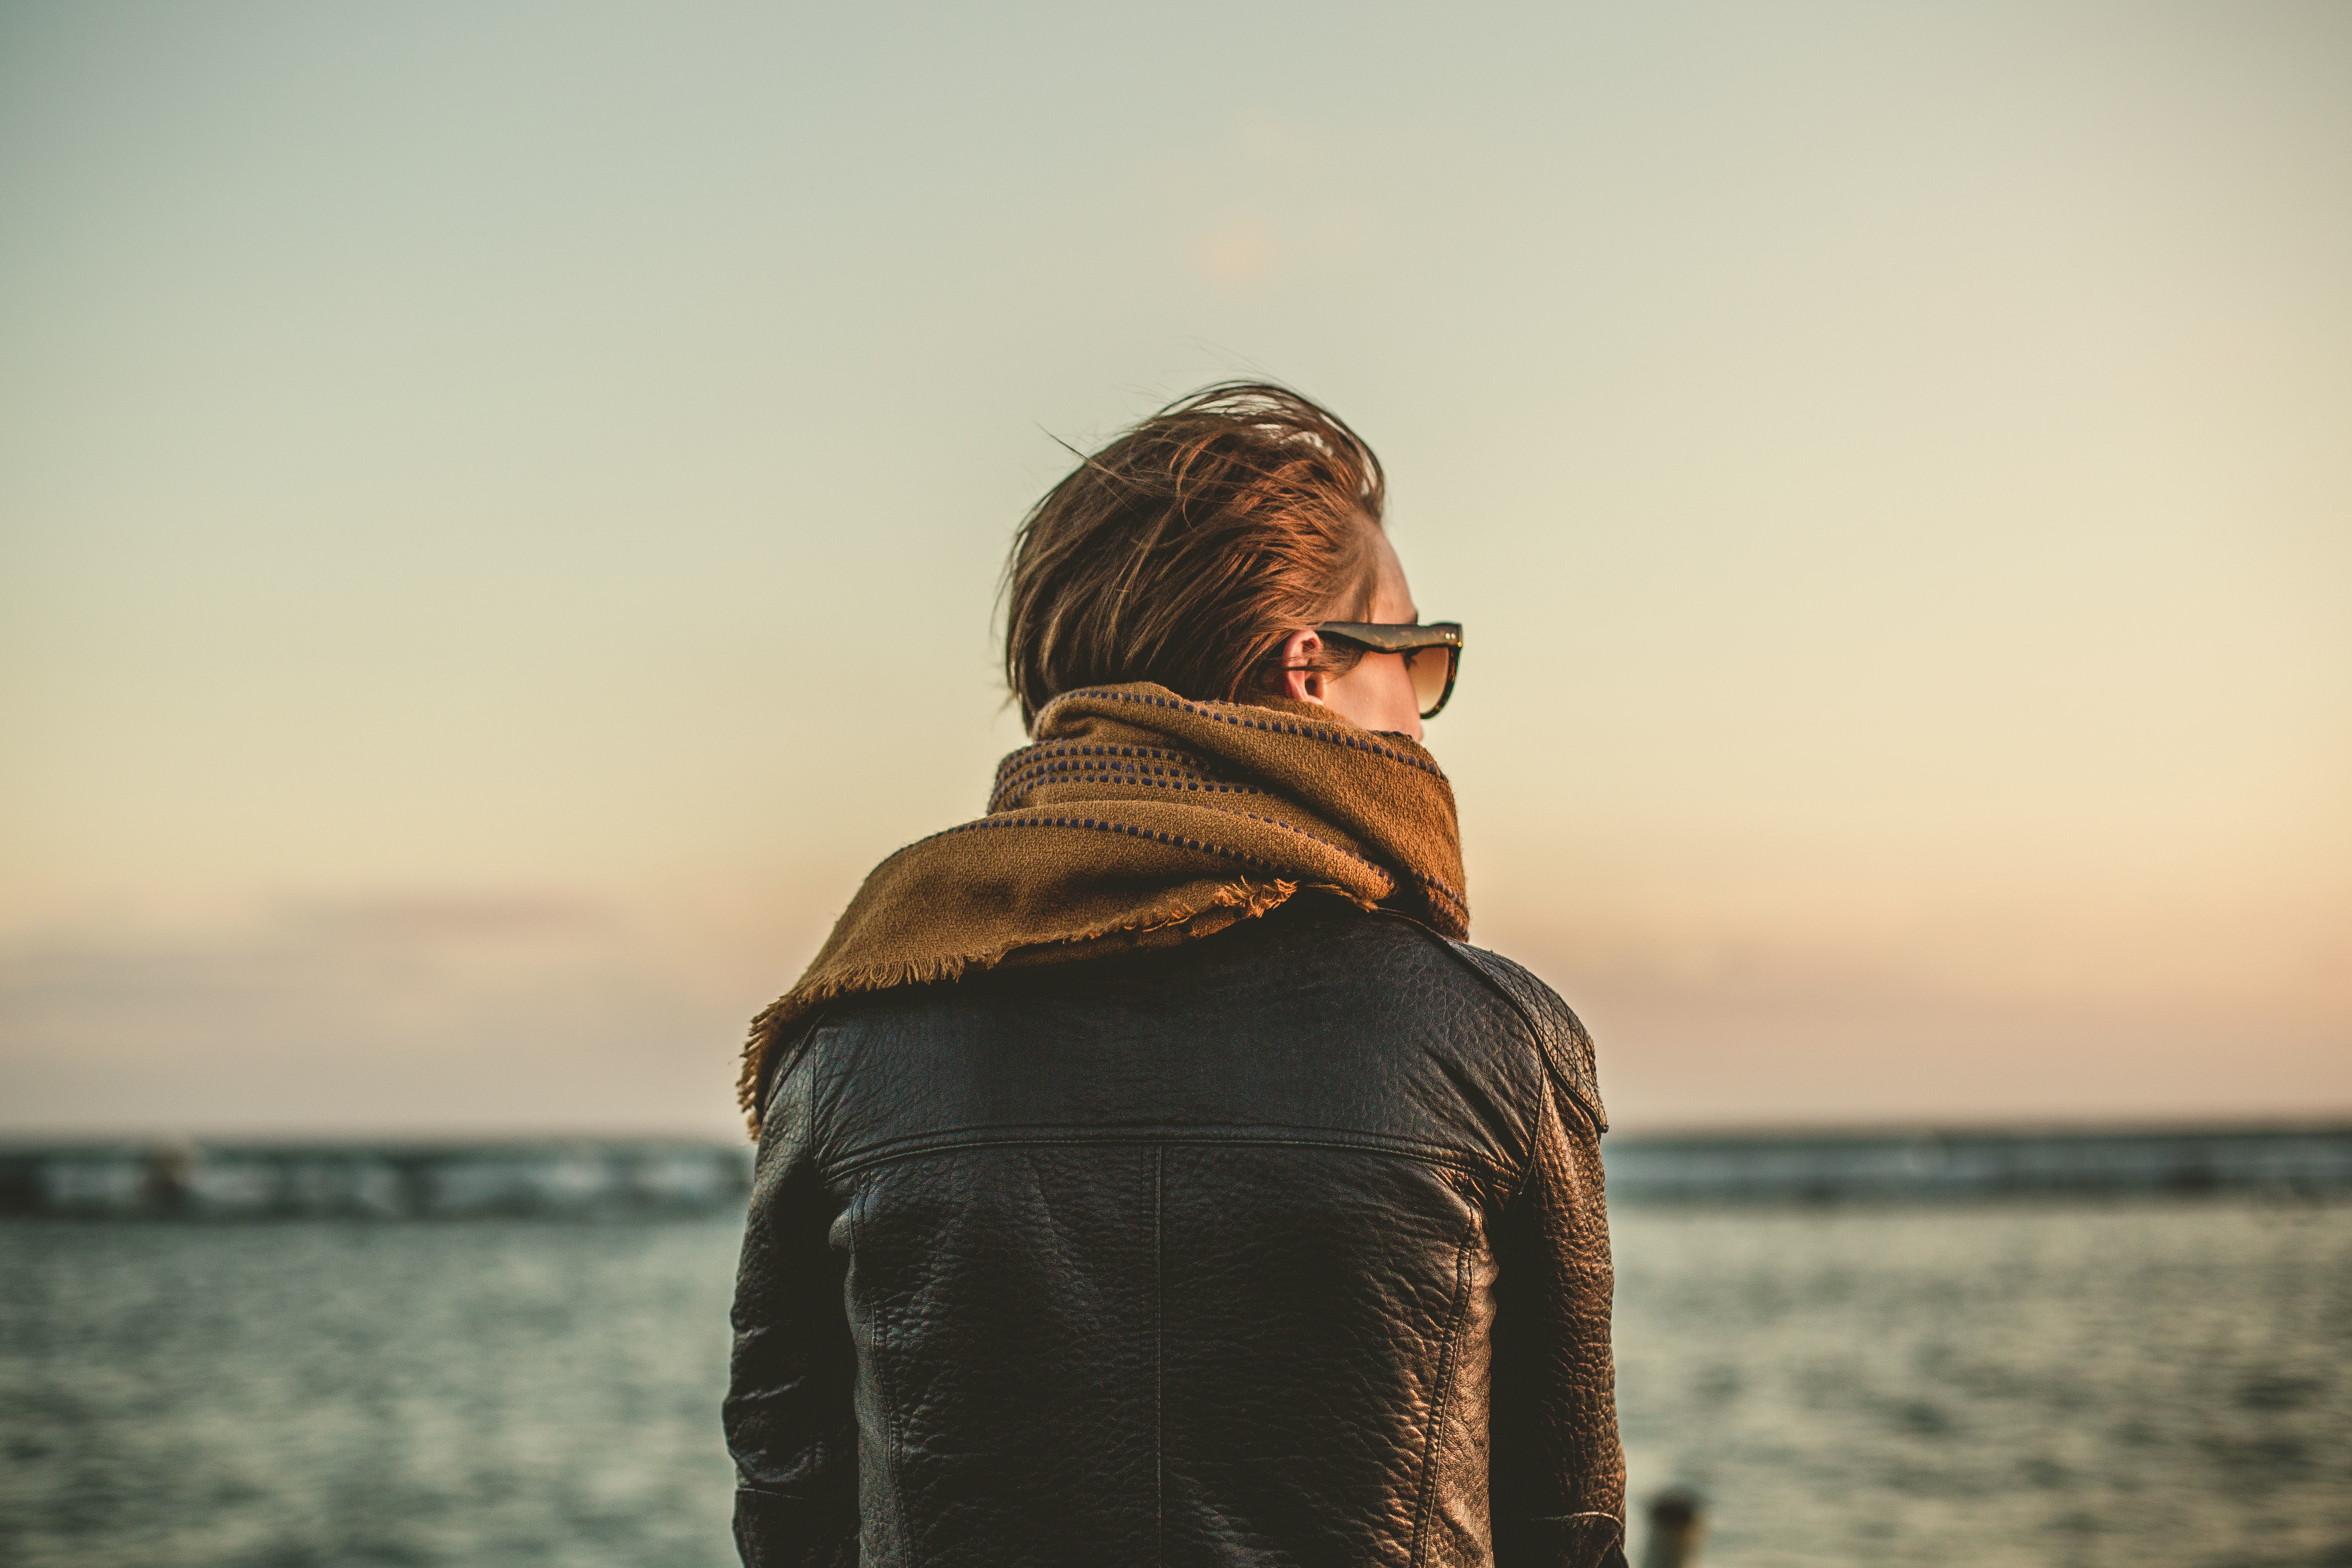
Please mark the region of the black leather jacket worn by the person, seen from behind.
<svg viewBox="0 0 2352 1568"><path fill-rule="evenodd" d="M1592 1044L1519 966L1301 896L835 1006L767 1095L746 1563L1623 1563Z"/></svg>

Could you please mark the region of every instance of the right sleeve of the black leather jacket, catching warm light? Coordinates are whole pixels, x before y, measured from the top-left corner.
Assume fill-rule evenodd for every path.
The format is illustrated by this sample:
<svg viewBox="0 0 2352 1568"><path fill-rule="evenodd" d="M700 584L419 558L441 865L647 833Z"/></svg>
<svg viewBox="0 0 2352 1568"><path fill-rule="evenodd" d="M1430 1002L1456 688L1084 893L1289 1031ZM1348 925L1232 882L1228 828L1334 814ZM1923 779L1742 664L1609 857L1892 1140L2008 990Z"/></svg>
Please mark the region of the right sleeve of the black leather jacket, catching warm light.
<svg viewBox="0 0 2352 1568"><path fill-rule="evenodd" d="M1543 1051L1526 1173L1496 1222L1489 1497L1496 1568L1623 1568L1609 1206L1592 1039L1548 985L1479 952ZM1508 971L1508 973L1503 973Z"/></svg>

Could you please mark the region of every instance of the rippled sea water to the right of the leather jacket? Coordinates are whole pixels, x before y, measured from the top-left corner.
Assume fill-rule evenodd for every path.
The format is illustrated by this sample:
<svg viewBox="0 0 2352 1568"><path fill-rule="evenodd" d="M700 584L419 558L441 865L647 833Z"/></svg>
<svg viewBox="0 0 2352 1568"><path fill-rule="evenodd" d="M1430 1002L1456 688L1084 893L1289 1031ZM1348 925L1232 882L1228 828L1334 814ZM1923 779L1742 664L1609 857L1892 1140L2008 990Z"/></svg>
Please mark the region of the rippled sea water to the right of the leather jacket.
<svg viewBox="0 0 2352 1568"><path fill-rule="evenodd" d="M2352 1568L2352 1206L1611 1229L1630 1490L1710 1563Z"/></svg>

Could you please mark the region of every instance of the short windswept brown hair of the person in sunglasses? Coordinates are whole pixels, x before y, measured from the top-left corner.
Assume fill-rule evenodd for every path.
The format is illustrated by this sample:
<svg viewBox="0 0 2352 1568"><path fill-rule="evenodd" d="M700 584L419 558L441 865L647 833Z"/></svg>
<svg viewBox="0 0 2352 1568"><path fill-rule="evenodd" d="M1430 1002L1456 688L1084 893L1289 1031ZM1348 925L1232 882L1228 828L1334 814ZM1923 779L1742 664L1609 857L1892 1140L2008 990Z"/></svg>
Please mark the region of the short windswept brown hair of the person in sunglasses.
<svg viewBox="0 0 2352 1568"><path fill-rule="evenodd" d="M1235 701L1277 684L1284 637L1371 611L1385 496L1371 447L1289 388L1228 381L1160 409L1021 520L1004 567L1021 722L1077 686Z"/></svg>

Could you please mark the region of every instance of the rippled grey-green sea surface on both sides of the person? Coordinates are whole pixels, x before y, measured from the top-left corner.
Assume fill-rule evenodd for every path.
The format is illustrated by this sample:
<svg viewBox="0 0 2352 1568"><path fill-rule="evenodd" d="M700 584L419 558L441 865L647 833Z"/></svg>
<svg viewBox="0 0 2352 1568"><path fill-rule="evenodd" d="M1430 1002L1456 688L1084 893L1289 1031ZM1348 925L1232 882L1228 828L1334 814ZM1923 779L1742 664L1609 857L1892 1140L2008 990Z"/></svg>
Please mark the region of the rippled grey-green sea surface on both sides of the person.
<svg viewBox="0 0 2352 1568"><path fill-rule="evenodd" d="M1613 1225L1708 1563L2352 1566L2347 1206ZM736 1232L0 1225L0 1561L731 1563Z"/></svg>

